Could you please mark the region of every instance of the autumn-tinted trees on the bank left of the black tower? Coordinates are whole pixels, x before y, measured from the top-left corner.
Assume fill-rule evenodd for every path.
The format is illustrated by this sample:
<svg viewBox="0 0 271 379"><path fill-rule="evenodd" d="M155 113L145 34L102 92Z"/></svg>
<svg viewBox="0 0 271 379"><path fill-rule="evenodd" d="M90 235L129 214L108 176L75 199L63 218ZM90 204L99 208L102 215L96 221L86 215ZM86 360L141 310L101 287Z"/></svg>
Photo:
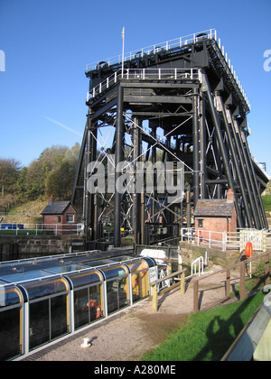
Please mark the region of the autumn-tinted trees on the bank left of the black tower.
<svg viewBox="0 0 271 379"><path fill-rule="evenodd" d="M14 159L0 159L0 207L22 201L54 195L55 199L70 199L80 146L53 145L45 149L29 167L21 168Z"/></svg>

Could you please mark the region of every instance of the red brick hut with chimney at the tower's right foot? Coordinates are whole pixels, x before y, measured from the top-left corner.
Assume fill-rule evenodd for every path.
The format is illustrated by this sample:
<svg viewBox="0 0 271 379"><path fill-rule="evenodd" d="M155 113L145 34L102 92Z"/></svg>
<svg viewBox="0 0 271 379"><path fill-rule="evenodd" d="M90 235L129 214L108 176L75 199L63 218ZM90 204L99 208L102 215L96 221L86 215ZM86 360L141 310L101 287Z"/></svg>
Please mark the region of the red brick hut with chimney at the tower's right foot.
<svg viewBox="0 0 271 379"><path fill-rule="evenodd" d="M209 231L213 233L211 239L222 240L221 233L236 233L237 215L234 203L234 194L229 189L227 199L198 200L194 211L196 236L209 238Z"/></svg>

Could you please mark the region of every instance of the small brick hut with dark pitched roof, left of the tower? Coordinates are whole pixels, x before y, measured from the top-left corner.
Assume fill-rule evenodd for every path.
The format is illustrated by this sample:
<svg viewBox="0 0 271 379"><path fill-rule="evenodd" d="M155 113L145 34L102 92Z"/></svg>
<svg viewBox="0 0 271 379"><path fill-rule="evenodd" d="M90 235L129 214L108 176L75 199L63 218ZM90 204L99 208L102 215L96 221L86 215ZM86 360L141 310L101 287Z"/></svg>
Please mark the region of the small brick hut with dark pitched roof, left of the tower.
<svg viewBox="0 0 271 379"><path fill-rule="evenodd" d="M77 210L70 201L53 201L42 210L43 227L47 230L63 232L76 232Z"/></svg>

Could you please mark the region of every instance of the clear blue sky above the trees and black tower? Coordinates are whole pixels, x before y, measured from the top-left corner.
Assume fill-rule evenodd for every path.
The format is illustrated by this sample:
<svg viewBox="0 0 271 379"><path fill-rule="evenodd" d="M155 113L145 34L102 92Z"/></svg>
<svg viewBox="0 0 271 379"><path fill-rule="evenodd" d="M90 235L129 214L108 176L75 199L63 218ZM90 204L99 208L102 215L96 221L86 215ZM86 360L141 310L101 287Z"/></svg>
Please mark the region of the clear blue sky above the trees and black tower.
<svg viewBox="0 0 271 379"><path fill-rule="evenodd" d="M251 153L271 175L270 17L270 0L0 0L0 157L29 165L81 143L85 67L121 54L123 26L126 52L214 28L251 104Z"/></svg>

